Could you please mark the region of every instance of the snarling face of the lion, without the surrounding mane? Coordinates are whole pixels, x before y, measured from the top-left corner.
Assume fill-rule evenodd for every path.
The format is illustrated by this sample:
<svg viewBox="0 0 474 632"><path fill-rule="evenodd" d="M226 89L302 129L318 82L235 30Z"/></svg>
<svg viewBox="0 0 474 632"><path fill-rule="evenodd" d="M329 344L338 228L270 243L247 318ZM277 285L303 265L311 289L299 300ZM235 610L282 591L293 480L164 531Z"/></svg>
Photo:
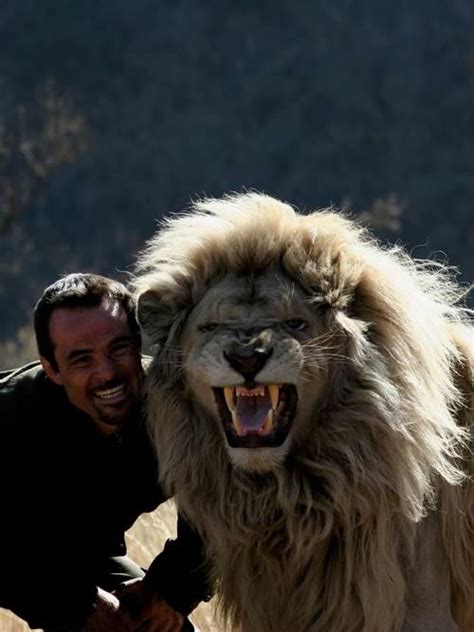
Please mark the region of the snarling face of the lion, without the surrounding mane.
<svg viewBox="0 0 474 632"><path fill-rule="evenodd" d="M182 337L186 382L235 464L284 459L324 389L314 346L324 333L303 291L276 271L226 277L194 308Z"/></svg>

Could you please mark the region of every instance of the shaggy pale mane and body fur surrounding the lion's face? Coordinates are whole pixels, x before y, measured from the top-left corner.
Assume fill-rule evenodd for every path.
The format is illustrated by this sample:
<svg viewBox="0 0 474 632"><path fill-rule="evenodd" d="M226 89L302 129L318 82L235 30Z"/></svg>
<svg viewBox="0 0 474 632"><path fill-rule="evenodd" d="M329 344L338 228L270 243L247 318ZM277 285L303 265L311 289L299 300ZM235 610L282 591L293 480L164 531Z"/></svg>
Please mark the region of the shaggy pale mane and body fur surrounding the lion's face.
<svg viewBox="0 0 474 632"><path fill-rule="evenodd" d="M312 423L261 474L231 462L196 403L182 337L218 280L272 268L324 307L337 353ZM449 270L380 246L340 213L300 215L245 193L166 220L135 286L154 345L148 423L160 475L208 543L232 629L434 631L409 624L417 538L431 521L442 548L433 586L442 575L470 630L474 336Z"/></svg>

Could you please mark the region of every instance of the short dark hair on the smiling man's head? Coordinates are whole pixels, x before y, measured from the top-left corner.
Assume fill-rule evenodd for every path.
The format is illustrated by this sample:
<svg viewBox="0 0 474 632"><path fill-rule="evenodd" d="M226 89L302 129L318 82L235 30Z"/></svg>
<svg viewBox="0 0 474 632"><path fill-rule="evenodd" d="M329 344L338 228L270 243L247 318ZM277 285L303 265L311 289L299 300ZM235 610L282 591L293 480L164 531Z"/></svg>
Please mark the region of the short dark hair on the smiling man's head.
<svg viewBox="0 0 474 632"><path fill-rule="evenodd" d="M49 285L34 309L34 326L38 352L57 369L54 345L49 334L51 314L59 307L98 307L104 300L117 301L127 314L128 325L138 346L140 327L135 317L132 294L119 281L98 274L75 273Z"/></svg>

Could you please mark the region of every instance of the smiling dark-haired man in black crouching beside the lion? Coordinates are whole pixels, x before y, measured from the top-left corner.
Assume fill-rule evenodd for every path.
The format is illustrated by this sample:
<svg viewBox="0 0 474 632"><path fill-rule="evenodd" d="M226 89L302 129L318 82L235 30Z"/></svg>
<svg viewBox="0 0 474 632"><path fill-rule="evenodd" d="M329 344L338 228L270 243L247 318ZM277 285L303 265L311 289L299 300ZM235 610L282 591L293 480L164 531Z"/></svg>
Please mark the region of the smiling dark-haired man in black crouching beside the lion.
<svg viewBox="0 0 474 632"><path fill-rule="evenodd" d="M120 283L60 279L35 308L40 363L0 374L0 607L47 632L174 632L208 591L182 521L143 581L126 557L124 532L166 500L134 312Z"/></svg>

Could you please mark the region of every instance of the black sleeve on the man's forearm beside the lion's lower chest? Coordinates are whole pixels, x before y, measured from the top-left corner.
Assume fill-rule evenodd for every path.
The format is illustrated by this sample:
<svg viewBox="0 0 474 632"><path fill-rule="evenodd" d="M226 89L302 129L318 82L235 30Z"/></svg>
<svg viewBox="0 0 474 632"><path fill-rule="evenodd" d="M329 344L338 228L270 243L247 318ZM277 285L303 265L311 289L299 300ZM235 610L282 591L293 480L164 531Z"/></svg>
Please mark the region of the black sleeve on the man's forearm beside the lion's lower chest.
<svg viewBox="0 0 474 632"><path fill-rule="evenodd" d="M204 543L199 534L178 516L178 537L167 540L150 566L145 582L175 610L187 616L212 596Z"/></svg>

